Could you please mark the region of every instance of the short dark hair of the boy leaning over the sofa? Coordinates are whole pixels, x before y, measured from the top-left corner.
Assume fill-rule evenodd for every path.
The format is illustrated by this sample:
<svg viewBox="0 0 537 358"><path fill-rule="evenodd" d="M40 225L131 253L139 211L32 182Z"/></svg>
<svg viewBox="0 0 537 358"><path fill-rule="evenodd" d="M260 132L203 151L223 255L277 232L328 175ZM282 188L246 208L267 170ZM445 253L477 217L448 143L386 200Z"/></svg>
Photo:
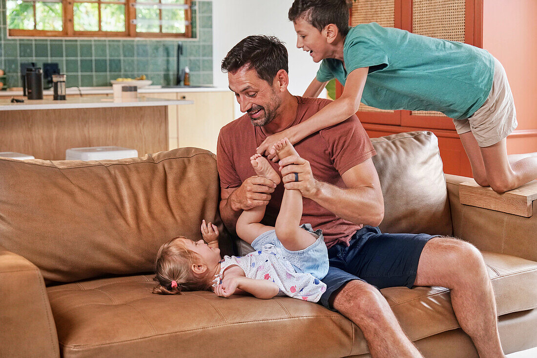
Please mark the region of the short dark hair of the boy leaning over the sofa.
<svg viewBox="0 0 537 358"><path fill-rule="evenodd" d="M303 18L319 31L334 24L342 36L349 32L349 5L346 0L295 0L288 16L290 21Z"/></svg>

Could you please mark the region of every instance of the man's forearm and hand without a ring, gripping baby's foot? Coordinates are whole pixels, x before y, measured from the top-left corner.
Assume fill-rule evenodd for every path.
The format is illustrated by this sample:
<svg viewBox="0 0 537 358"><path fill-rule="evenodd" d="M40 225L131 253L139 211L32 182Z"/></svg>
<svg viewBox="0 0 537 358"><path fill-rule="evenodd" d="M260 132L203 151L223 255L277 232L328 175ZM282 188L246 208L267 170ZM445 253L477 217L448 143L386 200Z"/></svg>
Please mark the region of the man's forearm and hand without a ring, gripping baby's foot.
<svg viewBox="0 0 537 358"><path fill-rule="evenodd" d="M266 206L276 185L272 180L253 176L238 188L221 189L220 216L226 228L235 232L238 217L243 210Z"/></svg>

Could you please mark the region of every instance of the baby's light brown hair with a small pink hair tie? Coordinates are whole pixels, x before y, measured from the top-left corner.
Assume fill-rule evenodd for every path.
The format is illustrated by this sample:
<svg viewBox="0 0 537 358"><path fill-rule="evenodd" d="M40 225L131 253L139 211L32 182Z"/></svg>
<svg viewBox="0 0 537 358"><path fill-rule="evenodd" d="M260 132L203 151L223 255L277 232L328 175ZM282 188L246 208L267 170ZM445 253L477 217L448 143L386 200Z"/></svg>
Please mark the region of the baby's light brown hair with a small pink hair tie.
<svg viewBox="0 0 537 358"><path fill-rule="evenodd" d="M154 294L179 295L182 291L211 290L210 274L197 275L192 271L192 265L199 262L199 257L186 247L183 239L188 240L179 236L158 250L154 277L158 284L153 289ZM171 287L172 281L177 282L177 287Z"/></svg>

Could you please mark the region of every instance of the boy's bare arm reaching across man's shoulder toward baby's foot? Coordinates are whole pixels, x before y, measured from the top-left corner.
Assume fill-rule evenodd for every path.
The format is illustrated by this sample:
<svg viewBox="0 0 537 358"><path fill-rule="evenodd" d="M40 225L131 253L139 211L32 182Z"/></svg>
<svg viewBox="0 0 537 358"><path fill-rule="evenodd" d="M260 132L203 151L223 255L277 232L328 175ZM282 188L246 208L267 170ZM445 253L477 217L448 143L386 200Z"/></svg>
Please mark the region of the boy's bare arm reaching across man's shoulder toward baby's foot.
<svg viewBox="0 0 537 358"><path fill-rule="evenodd" d="M349 76L347 76L347 81L341 97L324 106L321 111L315 113L306 121L281 131L280 133L275 133L266 137L263 143L261 143L261 145L259 145L257 148L257 152L261 155L268 156L269 159L272 159L273 155L270 155L269 150L272 148L274 143L282 140L283 138L287 137L289 138L289 141L291 141L291 144L295 144L310 134L343 122L351 115L356 113L358 111L358 107L360 107L360 99L362 98L362 92L364 92L368 70L369 67L362 67L352 71ZM314 81L317 80L315 79ZM310 86L312 86L312 84L310 84Z"/></svg>

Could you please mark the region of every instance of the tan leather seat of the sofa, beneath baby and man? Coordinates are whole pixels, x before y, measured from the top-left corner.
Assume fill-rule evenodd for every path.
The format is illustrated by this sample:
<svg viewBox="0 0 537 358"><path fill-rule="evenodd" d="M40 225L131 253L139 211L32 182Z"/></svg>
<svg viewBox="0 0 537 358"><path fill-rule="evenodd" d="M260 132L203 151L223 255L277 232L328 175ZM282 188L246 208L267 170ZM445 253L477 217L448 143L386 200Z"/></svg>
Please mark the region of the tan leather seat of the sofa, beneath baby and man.
<svg viewBox="0 0 537 358"><path fill-rule="evenodd" d="M535 307L531 287L537 279L536 262L491 253L484 253L484 258L499 314ZM319 304L281 296L221 298L208 291L154 295L151 279L127 276L48 287L62 356L255 352L326 357L367 352L357 326ZM514 287L528 289L515 294ZM381 292L412 341L459 327L445 288L393 287Z"/></svg>

